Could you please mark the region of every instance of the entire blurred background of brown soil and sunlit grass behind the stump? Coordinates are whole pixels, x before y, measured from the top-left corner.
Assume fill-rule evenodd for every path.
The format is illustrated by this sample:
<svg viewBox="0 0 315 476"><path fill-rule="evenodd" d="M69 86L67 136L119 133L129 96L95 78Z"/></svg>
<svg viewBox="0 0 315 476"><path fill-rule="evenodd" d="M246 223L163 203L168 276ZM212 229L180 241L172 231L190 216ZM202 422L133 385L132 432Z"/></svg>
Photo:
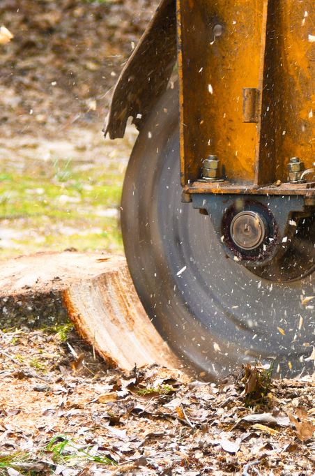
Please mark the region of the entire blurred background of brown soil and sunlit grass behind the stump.
<svg viewBox="0 0 315 476"><path fill-rule="evenodd" d="M156 0L1 0L0 258L123 253L119 203L137 138L104 138L118 75Z"/></svg>

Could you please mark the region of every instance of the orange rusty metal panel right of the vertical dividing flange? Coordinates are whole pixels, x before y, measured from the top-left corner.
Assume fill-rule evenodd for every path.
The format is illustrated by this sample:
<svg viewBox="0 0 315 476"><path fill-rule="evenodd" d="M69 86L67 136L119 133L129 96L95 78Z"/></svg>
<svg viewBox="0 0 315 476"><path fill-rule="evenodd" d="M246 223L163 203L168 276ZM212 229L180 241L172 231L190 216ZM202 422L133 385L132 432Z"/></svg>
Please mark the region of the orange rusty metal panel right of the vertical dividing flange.
<svg viewBox="0 0 315 476"><path fill-rule="evenodd" d="M275 1L275 151L277 178L298 156L305 168L314 162L314 1Z"/></svg>

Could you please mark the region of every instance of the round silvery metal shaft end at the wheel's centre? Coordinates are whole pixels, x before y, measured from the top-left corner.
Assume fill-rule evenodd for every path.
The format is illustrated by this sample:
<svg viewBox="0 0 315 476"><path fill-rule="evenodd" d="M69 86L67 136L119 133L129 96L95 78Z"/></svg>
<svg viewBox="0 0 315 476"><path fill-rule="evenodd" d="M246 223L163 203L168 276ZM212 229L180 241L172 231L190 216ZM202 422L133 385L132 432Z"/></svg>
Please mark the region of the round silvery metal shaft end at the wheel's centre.
<svg viewBox="0 0 315 476"><path fill-rule="evenodd" d="M267 223L256 211L240 211L231 221L231 239L238 248L254 250L266 237Z"/></svg>

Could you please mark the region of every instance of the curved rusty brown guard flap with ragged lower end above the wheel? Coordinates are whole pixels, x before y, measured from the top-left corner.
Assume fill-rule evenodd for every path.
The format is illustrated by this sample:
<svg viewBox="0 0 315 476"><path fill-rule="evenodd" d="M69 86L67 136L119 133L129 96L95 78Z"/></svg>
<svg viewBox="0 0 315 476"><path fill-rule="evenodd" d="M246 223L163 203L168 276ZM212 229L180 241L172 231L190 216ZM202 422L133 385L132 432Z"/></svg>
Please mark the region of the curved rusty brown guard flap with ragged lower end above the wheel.
<svg viewBox="0 0 315 476"><path fill-rule="evenodd" d="M123 137L128 117L137 128L164 93L176 62L175 0L162 0L114 89L105 135Z"/></svg>

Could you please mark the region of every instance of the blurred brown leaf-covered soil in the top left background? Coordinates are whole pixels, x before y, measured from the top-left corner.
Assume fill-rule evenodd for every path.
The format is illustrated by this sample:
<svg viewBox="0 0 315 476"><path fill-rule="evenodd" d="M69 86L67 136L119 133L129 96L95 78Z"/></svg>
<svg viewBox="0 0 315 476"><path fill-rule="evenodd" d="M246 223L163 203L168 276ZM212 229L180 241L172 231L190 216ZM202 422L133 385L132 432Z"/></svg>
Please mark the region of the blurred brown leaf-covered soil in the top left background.
<svg viewBox="0 0 315 476"><path fill-rule="evenodd" d="M2 0L2 136L66 137L98 128L124 62L154 13L153 0Z"/></svg>

